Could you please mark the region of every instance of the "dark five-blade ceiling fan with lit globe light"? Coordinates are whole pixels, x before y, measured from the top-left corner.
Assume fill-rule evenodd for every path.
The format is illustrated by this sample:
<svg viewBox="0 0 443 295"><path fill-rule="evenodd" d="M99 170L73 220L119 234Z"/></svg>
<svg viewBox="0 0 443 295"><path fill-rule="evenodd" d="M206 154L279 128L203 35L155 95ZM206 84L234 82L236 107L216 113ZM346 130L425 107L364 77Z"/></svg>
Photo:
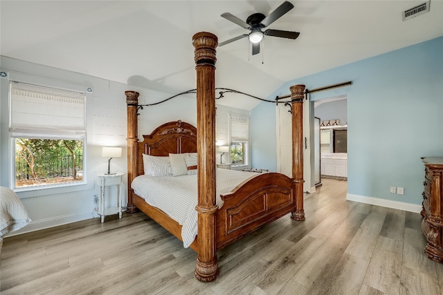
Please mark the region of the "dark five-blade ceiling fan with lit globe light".
<svg viewBox="0 0 443 295"><path fill-rule="evenodd" d="M221 15L221 17L224 17L225 19L228 19L228 21L236 23L242 28L251 30L251 32L249 32L249 34L240 35L232 39L229 39L227 41L221 42L219 46L224 46L233 41L237 41L244 37L248 37L249 41L251 41L252 43L252 55L256 55L257 53L260 53L260 41L262 41L264 35L287 38L287 39L297 39L298 35L300 35L300 32L291 32L287 30L273 30L273 29L267 29L265 31L262 31L262 28L266 28L277 19L280 19L280 17L282 17L292 8L293 8L292 3L290 3L289 1L284 1L280 6L278 6L278 8L276 8L273 12L271 12L267 17L262 13L254 13L253 15L250 15L246 19L246 22L242 21L238 17L231 15L229 12L224 13L223 15Z"/></svg>

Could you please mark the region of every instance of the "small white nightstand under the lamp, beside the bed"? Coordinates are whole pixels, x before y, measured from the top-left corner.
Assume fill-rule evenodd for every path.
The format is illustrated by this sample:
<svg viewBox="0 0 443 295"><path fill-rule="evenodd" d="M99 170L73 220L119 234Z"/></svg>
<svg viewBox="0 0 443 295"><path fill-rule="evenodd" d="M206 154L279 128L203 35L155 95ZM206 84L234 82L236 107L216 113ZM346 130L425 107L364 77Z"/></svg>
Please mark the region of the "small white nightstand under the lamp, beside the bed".
<svg viewBox="0 0 443 295"><path fill-rule="evenodd" d="M98 185L100 185L100 200L98 203L98 215L101 216L101 221L105 222L105 216L117 214L118 218L122 218L122 196L121 196L121 184L123 183L123 175L125 173L115 173L115 174L98 174ZM116 207L106 207L105 208L105 198L106 198L106 187L111 187L112 185L117 186L117 206Z"/></svg>

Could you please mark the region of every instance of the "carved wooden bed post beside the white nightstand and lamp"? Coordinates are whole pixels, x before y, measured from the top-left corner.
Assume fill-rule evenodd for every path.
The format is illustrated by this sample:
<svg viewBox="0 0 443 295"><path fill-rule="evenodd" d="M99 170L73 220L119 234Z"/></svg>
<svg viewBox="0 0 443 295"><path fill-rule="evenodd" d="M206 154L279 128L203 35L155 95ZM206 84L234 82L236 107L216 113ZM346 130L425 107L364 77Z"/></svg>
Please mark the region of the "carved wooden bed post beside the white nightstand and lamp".
<svg viewBox="0 0 443 295"><path fill-rule="evenodd" d="M132 203L131 183L137 174L137 106L138 95L136 91L125 91L127 104L127 213L135 213L137 208Z"/></svg>

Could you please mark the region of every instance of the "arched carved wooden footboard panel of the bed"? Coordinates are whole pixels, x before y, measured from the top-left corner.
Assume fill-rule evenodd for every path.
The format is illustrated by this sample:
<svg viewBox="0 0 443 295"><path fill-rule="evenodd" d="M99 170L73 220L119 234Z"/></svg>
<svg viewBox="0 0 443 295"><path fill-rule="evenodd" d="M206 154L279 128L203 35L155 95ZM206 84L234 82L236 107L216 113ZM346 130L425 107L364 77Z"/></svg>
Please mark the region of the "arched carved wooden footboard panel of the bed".
<svg viewBox="0 0 443 295"><path fill-rule="evenodd" d="M280 173L258 175L221 195L221 199L223 207L216 213L217 250L296 211L293 179Z"/></svg>

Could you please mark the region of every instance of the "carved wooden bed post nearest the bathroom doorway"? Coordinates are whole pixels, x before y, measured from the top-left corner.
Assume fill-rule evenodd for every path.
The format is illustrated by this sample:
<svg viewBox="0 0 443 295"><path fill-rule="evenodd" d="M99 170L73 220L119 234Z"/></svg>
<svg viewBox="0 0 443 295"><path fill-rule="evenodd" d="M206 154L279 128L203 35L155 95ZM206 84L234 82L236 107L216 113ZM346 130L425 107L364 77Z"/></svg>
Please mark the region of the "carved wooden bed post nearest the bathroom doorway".
<svg viewBox="0 0 443 295"><path fill-rule="evenodd" d="M296 206L291 213L294 220L305 220L303 209L303 99L305 85L293 85L291 90L292 102L292 177L295 182Z"/></svg>

